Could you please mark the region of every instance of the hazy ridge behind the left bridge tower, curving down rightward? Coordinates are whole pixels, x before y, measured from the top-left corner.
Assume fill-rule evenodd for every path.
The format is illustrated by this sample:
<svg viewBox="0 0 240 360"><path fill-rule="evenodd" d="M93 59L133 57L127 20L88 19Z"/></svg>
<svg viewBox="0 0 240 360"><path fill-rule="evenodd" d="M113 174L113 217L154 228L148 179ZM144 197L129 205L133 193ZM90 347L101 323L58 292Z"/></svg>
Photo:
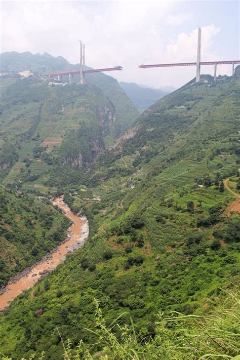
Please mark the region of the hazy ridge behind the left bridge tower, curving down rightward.
<svg viewBox="0 0 240 360"><path fill-rule="evenodd" d="M87 69L90 69L88 66ZM79 64L70 64L62 56L54 57L48 53L31 54L26 53L2 53L1 54L1 71L2 72L20 72L30 70L34 74L48 75L52 72L76 71ZM67 80L67 78L66 78ZM74 76L74 81L78 81L78 77ZM139 112L134 107L126 93L119 87L117 81L104 73L92 73L86 75L86 81L97 86L113 103L117 117L117 134L125 131L133 124Z"/></svg>

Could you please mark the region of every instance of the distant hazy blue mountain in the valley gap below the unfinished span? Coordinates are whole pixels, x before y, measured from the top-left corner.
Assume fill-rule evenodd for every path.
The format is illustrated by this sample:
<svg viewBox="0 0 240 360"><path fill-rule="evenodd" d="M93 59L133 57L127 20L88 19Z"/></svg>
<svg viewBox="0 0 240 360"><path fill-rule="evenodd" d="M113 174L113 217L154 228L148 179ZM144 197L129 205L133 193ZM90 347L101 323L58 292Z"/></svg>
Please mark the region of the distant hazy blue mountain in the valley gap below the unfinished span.
<svg viewBox="0 0 240 360"><path fill-rule="evenodd" d="M120 82L119 85L124 89L140 113L171 92L161 89L146 88L135 83Z"/></svg>

